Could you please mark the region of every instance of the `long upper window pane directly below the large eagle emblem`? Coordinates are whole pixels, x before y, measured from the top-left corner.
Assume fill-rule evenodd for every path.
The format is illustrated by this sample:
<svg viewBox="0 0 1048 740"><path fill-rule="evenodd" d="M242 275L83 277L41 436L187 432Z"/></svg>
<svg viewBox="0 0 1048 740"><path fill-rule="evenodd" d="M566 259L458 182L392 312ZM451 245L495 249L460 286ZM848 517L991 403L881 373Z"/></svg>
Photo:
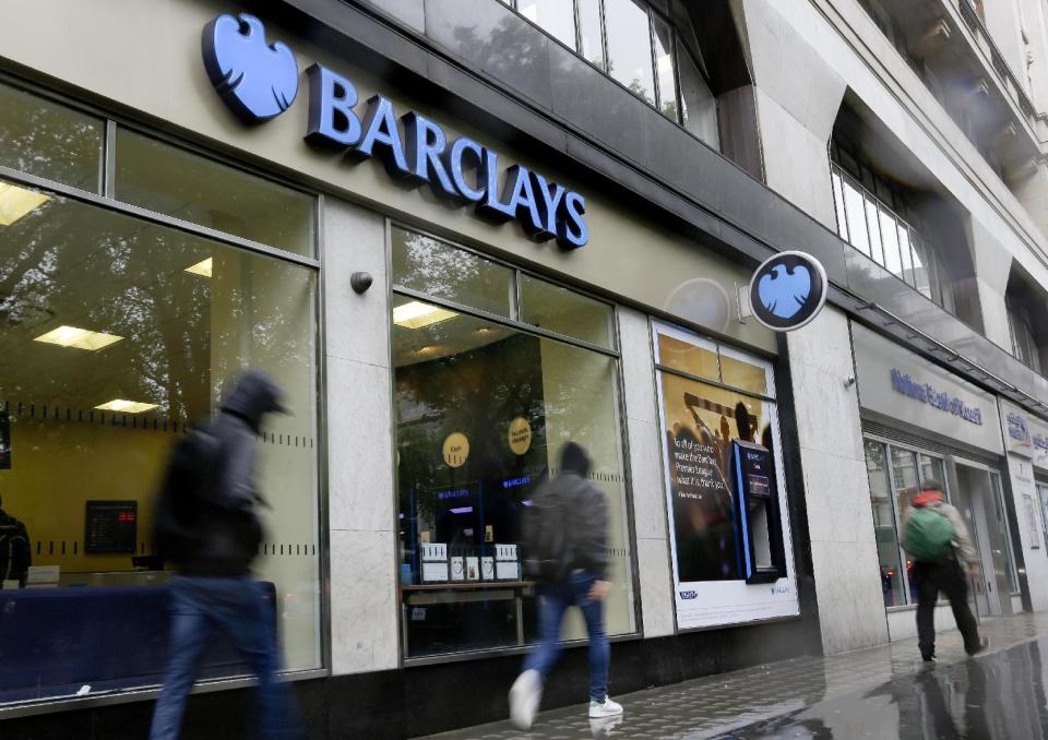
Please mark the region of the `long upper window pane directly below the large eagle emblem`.
<svg viewBox="0 0 1048 740"><path fill-rule="evenodd" d="M116 159L118 200L313 255L315 200L306 193L122 127Z"/></svg>

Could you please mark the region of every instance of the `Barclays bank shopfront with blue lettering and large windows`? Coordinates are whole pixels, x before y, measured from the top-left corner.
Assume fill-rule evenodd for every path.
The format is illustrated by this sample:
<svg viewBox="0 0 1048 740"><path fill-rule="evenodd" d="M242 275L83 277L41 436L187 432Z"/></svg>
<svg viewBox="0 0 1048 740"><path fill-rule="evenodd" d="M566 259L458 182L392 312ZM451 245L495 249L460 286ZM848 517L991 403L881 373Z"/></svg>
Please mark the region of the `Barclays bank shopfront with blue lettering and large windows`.
<svg viewBox="0 0 1048 740"><path fill-rule="evenodd" d="M612 691L818 649L788 368L739 318L751 268L275 19L259 22L294 52L298 102L243 123L200 53L237 10L170 3L167 43L145 49L150 17L69 5L127 41L129 68L163 69L159 96L90 49L0 37L0 494L29 532L26 585L46 586L0 590L0 726L127 712L141 735L166 643L157 479L245 367L294 411L260 435L258 570L321 725L493 718L535 635L521 512L569 440L608 497ZM218 649L201 678L242 675Z"/></svg>

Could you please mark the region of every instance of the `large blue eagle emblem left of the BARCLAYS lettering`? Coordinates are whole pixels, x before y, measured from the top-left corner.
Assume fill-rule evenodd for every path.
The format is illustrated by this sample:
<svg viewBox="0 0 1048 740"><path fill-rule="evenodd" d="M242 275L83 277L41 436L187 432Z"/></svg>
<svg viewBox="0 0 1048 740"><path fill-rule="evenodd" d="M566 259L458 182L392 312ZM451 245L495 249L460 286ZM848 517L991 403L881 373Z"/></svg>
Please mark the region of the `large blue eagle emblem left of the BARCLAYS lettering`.
<svg viewBox="0 0 1048 740"><path fill-rule="evenodd" d="M253 15L219 15L204 27L204 68L215 91L249 123L287 110L298 94L298 64L283 41L267 45Z"/></svg>

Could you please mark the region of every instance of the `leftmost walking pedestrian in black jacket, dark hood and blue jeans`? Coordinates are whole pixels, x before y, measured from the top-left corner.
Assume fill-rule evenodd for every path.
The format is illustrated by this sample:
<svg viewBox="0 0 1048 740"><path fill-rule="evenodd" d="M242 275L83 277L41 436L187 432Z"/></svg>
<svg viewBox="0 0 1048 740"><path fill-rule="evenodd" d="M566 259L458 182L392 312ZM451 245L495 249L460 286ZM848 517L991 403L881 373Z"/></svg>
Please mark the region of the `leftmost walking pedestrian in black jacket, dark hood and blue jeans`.
<svg viewBox="0 0 1048 740"><path fill-rule="evenodd" d="M150 740L177 740L186 700L215 632L229 638L259 681L259 738L303 738L288 687L278 681L274 605L250 568L262 542L255 487L258 434L285 409L273 380L239 379L211 425L176 447L157 508L157 541L171 580L170 654Z"/></svg>

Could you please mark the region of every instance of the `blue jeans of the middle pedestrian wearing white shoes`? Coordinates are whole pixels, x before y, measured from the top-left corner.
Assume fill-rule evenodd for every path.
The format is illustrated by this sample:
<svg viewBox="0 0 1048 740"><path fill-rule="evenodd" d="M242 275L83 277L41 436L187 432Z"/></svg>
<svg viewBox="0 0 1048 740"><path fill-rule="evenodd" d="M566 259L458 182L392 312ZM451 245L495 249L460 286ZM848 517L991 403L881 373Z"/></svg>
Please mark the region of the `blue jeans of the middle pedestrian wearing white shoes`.
<svg viewBox="0 0 1048 740"><path fill-rule="evenodd" d="M560 623L568 607L582 609L590 633L590 699L603 702L608 695L608 636L604 632L604 601L588 598L597 577L575 571L563 583L539 586L538 640L524 660L524 670L537 670L545 679L560 657Z"/></svg>

